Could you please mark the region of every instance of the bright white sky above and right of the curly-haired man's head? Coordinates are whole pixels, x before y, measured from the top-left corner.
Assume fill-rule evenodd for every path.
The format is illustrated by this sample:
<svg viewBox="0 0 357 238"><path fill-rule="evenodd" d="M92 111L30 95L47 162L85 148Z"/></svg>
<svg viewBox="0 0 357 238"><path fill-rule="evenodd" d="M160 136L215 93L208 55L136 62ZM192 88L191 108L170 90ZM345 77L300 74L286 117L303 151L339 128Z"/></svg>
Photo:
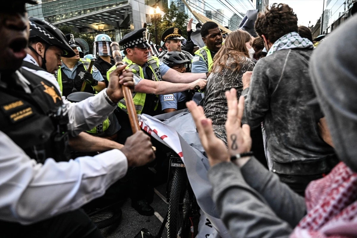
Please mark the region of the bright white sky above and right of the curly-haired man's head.
<svg viewBox="0 0 357 238"><path fill-rule="evenodd" d="M323 0L269 0L269 4L274 2L288 4L297 15L298 25L315 25L322 14Z"/></svg>

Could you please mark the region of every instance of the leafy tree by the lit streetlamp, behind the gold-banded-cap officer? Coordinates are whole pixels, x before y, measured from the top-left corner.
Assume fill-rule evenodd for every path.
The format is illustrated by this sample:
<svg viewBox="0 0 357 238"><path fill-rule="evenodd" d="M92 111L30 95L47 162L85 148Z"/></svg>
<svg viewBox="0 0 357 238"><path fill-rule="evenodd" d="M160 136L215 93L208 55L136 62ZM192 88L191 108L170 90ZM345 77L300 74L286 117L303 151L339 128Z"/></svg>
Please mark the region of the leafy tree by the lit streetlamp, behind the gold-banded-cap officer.
<svg viewBox="0 0 357 238"><path fill-rule="evenodd" d="M157 27L157 37L159 42L161 41L161 35L170 27L178 27L182 30L182 36L187 39L187 14L183 12L179 12L177 6L174 2L171 2L170 8L166 5L164 9L164 16L159 15L156 19L156 27ZM151 17L152 25L148 26L148 32L152 34L152 42L155 42L155 27L154 27L154 17Z"/></svg>

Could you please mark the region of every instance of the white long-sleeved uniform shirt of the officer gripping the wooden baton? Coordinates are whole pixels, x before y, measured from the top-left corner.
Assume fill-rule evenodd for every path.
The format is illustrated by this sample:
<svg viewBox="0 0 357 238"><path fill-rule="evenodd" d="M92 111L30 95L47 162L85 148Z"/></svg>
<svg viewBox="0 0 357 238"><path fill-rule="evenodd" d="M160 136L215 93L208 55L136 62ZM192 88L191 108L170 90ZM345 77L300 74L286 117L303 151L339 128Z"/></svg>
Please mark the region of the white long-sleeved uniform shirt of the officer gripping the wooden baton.
<svg viewBox="0 0 357 238"><path fill-rule="evenodd" d="M23 76L17 82L29 90ZM106 90L79 103L66 103L71 135L90 130L115 110L104 93ZM48 158L40 164L0 131L0 219L31 224L80 208L124 177L127 167L125 155L116 149L69 162Z"/></svg>

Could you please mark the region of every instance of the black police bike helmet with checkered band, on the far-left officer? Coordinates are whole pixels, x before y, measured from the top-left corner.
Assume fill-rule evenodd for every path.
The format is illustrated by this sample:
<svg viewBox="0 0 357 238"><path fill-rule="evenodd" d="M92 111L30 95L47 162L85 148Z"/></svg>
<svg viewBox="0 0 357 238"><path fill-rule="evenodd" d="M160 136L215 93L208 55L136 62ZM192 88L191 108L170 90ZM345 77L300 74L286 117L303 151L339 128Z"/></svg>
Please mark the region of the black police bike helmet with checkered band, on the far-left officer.
<svg viewBox="0 0 357 238"><path fill-rule="evenodd" d="M75 56L75 52L68 44L65 35L57 27L45 20L36 17L29 17L31 41L39 40L49 46L56 46L63 51L62 57L70 58Z"/></svg>

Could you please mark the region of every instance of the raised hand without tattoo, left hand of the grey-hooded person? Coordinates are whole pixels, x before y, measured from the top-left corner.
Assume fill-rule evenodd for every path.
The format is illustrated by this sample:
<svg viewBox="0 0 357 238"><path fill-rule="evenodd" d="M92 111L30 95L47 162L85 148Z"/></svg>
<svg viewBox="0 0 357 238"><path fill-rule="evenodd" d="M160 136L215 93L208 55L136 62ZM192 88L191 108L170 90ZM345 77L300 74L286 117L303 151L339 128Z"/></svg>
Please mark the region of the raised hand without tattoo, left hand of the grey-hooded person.
<svg viewBox="0 0 357 238"><path fill-rule="evenodd" d="M207 153L210 165L213 166L220 162L229 161L227 147L222 140L215 136L212 128L212 120L206 118L203 108L197 106L193 101L186 102L186 106L195 121L198 135Z"/></svg>

